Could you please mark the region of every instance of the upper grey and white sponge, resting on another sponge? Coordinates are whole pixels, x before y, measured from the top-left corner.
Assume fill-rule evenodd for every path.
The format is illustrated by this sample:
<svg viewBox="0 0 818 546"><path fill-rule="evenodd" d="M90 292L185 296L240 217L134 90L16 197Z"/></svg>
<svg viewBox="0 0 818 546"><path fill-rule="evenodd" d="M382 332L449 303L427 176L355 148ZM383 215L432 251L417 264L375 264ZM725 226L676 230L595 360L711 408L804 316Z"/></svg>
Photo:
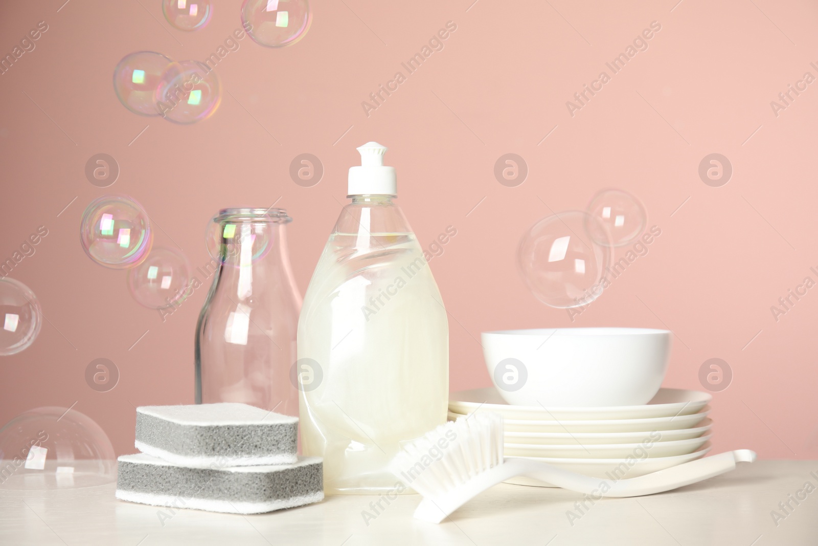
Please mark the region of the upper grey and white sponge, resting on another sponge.
<svg viewBox="0 0 818 546"><path fill-rule="evenodd" d="M292 464L299 418L247 404L222 402L137 408L134 445L186 467Z"/></svg>

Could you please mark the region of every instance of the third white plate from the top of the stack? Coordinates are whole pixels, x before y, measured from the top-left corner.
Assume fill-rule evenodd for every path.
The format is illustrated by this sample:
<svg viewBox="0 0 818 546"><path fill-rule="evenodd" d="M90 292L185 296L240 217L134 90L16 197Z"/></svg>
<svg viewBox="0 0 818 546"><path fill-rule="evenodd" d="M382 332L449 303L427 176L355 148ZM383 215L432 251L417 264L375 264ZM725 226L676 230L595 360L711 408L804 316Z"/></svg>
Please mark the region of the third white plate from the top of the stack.
<svg viewBox="0 0 818 546"><path fill-rule="evenodd" d="M688 440L708 434L712 428L712 419L704 419L694 428L681 428L672 431L662 431L660 442L672 440ZM592 444L638 444L650 435L651 431L638 432L509 432L506 431L504 440L507 444L538 444L538 445L592 445Z"/></svg>

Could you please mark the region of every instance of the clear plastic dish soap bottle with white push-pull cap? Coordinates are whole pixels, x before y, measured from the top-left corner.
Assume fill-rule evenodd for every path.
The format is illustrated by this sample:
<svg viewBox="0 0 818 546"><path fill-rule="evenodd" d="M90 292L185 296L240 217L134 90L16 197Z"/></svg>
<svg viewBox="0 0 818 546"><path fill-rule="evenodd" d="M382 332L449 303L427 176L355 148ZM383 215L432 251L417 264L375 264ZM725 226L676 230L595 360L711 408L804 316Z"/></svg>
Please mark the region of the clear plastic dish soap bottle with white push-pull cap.
<svg viewBox="0 0 818 546"><path fill-rule="evenodd" d="M328 494L402 492L387 465L446 421L446 309L393 202L387 148L357 148L348 197L304 296L298 361L305 455L324 458Z"/></svg>

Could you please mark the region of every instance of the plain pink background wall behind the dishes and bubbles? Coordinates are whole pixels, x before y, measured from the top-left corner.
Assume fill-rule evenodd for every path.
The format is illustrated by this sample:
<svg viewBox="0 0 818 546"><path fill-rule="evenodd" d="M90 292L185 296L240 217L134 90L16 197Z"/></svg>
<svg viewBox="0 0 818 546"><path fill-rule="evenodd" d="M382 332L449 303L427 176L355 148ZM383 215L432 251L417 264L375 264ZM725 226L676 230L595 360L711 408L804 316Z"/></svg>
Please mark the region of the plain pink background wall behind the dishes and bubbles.
<svg viewBox="0 0 818 546"><path fill-rule="evenodd" d="M0 422L76 402L128 453L135 405L193 402L206 289L164 323L137 305L126 273L94 264L79 245L90 201L135 197L167 233L157 230L155 245L173 246L172 237L196 267L209 260L205 226L219 208L280 199L294 218L303 293L344 202L355 147L375 140L390 147L398 202L420 241L428 247L457 229L430 263L452 316L452 390L490 385L478 343L486 330L669 327L665 386L702 389L699 367L714 357L734 373L712 402L717 451L818 456L818 288L778 321L771 313L803 278L818 281L809 270L818 266L818 83L777 116L771 108L805 72L818 76L815 2L313 2L299 43L270 49L245 38L222 59L216 71L230 94L191 126L127 111L112 71L140 50L204 60L240 27L240 2L216 2L213 20L193 33L172 29L159 0L63 2L0 7L3 56L38 21L49 27L0 75L0 259L47 227L11 277L34 290L49 321L28 350L0 358ZM443 51L367 117L362 101L405 73L401 62L450 20L457 28ZM654 20L661 30L649 48L569 115L573 93ZM84 175L100 152L121 169L106 189ZM698 174L714 152L734 169L722 187ZM302 153L324 165L314 187L290 179ZM506 153L528 164L517 187L493 174ZM524 287L515 249L550 209L582 209L604 187L639 196L662 235L572 323ZM105 393L84 380L101 357L121 374Z"/></svg>

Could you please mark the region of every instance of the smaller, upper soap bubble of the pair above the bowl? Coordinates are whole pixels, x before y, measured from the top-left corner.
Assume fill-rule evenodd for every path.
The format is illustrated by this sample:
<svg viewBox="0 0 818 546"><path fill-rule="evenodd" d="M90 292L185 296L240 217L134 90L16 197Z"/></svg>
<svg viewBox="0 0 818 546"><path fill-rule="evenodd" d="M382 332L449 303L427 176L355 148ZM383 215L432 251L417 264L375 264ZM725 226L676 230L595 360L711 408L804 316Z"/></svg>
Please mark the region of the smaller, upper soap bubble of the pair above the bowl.
<svg viewBox="0 0 818 546"><path fill-rule="evenodd" d="M588 214L600 221L609 237L595 237L600 245L610 240L613 246L623 246L635 241L648 223L648 214L640 201L622 190L602 190L588 205ZM593 235L593 233L591 233Z"/></svg>

